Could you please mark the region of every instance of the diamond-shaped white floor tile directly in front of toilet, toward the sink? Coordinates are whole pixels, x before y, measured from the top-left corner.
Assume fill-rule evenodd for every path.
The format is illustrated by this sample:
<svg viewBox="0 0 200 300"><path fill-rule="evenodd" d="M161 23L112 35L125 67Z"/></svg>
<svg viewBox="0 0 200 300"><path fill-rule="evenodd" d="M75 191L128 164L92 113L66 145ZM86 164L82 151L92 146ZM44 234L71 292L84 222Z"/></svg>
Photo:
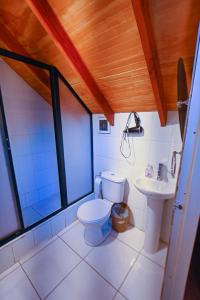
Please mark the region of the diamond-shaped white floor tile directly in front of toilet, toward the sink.
<svg viewBox="0 0 200 300"><path fill-rule="evenodd" d="M137 255L130 247L109 237L102 245L95 247L85 260L118 289Z"/></svg>

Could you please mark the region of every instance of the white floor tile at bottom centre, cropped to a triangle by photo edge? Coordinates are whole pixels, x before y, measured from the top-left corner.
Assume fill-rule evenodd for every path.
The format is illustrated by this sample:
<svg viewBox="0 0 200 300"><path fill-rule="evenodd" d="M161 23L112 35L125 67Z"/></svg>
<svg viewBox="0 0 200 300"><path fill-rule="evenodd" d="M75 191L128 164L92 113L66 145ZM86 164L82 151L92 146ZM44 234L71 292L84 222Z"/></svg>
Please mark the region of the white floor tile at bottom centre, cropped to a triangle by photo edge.
<svg viewBox="0 0 200 300"><path fill-rule="evenodd" d="M111 300L115 292L111 285L82 261L47 299Z"/></svg>

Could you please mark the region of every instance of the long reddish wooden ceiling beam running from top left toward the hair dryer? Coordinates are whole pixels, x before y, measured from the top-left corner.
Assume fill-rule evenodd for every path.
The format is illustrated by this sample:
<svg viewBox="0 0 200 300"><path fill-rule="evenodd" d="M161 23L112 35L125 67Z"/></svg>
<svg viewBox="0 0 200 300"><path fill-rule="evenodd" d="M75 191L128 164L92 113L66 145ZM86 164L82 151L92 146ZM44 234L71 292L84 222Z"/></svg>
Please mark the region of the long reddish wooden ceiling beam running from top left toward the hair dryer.
<svg viewBox="0 0 200 300"><path fill-rule="evenodd" d="M48 32L57 48L63 56L68 60L72 68L79 74L82 81L86 84L89 91L97 100L106 118L111 125L114 125L114 112L111 109L107 99L100 91L96 81L92 77L89 69L83 62L80 54L76 50L69 35L63 28L58 17L46 0L26 0L27 4Z"/></svg>

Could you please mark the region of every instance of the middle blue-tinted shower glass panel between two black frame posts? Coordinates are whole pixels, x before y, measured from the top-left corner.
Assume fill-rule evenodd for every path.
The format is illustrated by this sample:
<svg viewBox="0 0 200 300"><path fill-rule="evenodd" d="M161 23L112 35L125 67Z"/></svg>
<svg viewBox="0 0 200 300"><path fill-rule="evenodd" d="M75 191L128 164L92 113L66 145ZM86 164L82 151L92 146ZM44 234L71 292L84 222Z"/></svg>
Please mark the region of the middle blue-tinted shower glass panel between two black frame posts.
<svg viewBox="0 0 200 300"><path fill-rule="evenodd" d="M22 68L28 72L20 73ZM29 227L61 209L49 71L6 58L0 61L0 84L24 225Z"/></svg>

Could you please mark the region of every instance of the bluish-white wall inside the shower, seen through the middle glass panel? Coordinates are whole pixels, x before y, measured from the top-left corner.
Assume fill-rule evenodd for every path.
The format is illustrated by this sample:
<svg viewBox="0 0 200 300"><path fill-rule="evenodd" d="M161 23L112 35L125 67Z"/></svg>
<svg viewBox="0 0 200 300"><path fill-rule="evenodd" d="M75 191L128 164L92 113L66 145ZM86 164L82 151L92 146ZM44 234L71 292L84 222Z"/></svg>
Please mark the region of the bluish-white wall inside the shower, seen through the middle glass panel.
<svg viewBox="0 0 200 300"><path fill-rule="evenodd" d="M0 84L24 208L59 193L52 107L3 61Z"/></svg>

